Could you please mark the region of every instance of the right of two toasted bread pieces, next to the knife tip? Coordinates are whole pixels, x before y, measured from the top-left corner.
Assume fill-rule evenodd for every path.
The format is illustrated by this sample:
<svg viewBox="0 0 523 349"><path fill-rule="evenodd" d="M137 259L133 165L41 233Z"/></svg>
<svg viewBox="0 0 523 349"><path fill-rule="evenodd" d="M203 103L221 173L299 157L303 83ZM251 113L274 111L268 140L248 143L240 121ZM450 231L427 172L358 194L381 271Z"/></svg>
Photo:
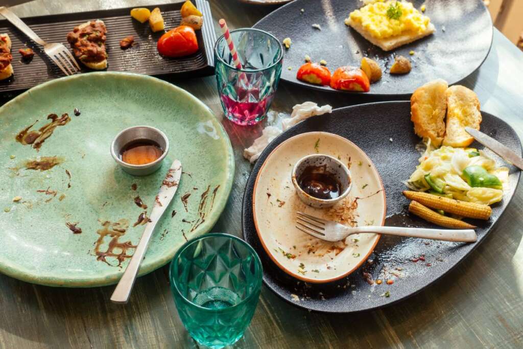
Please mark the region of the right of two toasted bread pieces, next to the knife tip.
<svg viewBox="0 0 523 349"><path fill-rule="evenodd" d="M450 147L468 147L474 141L465 127L480 129L480 101L471 89L456 85L451 86L447 95L447 129L443 145Z"/></svg>

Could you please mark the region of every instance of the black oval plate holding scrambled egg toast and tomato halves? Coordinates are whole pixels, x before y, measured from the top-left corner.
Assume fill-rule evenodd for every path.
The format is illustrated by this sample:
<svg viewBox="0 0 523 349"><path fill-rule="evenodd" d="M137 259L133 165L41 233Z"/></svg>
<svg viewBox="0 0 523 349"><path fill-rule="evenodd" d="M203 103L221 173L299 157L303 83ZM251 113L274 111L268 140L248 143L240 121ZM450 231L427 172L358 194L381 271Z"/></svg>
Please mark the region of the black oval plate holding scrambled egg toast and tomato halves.
<svg viewBox="0 0 523 349"><path fill-rule="evenodd" d="M435 78L453 84L480 67L490 51L493 35L490 14L481 0L415 0L412 3L417 9L426 5L425 14L436 32L389 52L374 46L344 24L349 13L362 6L358 0L297 0L267 15L254 28L268 31L280 41L291 38L281 78L321 91L357 93L297 80L296 72L305 63L305 54L315 62L326 60L331 72L343 65L360 66L363 56L376 59L382 68L387 67L381 80L372 84L367 93L376 96L410 95ZM312 28L312 24L319 24L322 30ZM409 55L411 50L415 52L413 56ZM389 74L394 55L410 58L412 71L406 75Z"/></svg>

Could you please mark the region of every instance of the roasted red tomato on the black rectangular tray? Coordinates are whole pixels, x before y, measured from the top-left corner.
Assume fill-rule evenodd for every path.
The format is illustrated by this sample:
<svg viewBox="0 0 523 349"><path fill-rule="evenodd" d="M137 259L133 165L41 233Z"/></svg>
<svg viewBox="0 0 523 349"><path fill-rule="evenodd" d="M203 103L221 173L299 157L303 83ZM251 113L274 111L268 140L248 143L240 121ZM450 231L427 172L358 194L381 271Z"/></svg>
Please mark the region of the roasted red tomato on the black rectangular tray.
<svg viewBox="0 0 523 349"><path fill-rule="evenodd" d="M195 30L179 26L167 31L157 44L158 52L165 57L184 57L198 51Z"/></svg>

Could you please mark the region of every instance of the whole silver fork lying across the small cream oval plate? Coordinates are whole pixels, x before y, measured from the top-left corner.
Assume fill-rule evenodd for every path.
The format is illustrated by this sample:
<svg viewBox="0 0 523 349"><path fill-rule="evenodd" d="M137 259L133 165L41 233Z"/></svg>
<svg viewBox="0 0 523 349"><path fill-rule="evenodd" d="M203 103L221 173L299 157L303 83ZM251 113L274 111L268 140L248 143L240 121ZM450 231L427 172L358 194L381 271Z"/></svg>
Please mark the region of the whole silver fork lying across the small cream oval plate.
<svg viewBox="0 0 523 349"><path fill-rule="evenodd" d="M314 217L303 212L296 212L296 228L315 238L326 241L340 241L349 235L359 233L379 233L386 235L399 235L401 237L423 238L432 240L474 242L477 240L473 229L426 229L426 228L403 228L403 227L347 227L343 224Z"/></svg>

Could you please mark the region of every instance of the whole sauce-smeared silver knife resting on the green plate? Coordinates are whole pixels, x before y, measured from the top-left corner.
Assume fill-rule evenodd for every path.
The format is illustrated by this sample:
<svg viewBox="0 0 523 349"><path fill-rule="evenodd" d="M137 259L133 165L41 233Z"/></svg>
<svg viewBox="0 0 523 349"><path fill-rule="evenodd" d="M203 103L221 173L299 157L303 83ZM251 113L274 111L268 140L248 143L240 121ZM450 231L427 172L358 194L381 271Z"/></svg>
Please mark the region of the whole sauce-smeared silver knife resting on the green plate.
<svg viewBox="0 0 523 349"><path fill-rule="evenodd" d="M123 273L122 278L116 285L115 291L112 292L111 301L115 303L127 303L129 296L131 296L132 287L134 281L138 276L140 264L142 263L145 252L147 251L147 245L153 234L156 223L162 218L165 209L169 205L169 202L173 199L178 189L181 176L181 163L175 160L170 166L165 178L160 186L160 192L154 199L154 207L151 211L151 215L148 218L149 222L145 225L142 237L138 246L134 250L131 261L127 265L126 271ZM147 218L146 218L147 219Z"/></svg>

